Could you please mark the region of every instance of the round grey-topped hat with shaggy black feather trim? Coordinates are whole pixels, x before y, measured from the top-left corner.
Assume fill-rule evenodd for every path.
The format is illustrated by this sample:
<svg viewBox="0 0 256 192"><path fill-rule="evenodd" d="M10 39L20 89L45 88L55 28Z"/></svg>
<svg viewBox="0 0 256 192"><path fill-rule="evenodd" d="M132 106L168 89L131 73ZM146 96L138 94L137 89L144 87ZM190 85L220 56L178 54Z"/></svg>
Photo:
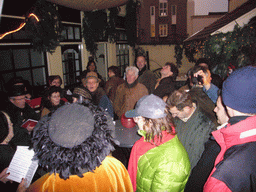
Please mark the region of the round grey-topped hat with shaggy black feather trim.
<svg viewBox="0 0 256 192"><path fill-rule="evenodd" d="M60 178L83 177L101 165L114 145L113 124L92 104L69 104L43 117L34 128L33 147L39 164Z"/></svg>

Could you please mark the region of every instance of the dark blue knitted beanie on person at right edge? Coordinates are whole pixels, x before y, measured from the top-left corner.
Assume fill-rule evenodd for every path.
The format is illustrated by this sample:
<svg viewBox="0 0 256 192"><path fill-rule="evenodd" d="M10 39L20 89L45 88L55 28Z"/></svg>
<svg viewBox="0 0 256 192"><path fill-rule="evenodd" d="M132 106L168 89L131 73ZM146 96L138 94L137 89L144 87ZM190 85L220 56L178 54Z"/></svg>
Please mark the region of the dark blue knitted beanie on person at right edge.
<svg viewBox="0 0 256 192"><path fill-rule="evenodd" d="M224 81L223 103L242 113L256 113L256 67L240 68Z"/></svg>

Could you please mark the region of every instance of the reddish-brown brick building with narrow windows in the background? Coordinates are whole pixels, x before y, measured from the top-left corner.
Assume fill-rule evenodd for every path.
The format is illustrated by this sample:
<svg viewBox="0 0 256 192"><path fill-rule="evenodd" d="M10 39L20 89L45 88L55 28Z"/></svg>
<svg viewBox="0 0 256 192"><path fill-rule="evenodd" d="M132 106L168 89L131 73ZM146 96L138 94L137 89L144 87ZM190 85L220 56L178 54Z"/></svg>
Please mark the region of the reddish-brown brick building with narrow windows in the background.
<svg viewBox="0 0 256 192"><path fill-rule="evenodd" d="M186 0L143 1L137 10L138 45L170 45L186 37Z"/></svg>

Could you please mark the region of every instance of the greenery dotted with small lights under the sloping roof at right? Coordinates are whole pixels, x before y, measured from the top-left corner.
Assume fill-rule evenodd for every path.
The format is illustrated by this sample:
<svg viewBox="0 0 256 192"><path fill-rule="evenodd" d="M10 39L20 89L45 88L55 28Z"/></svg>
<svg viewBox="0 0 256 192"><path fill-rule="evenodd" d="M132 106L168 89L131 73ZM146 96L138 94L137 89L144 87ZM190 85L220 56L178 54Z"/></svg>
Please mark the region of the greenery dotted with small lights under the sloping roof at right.
<svg viewBox="0 0 256 192"><path fill-rule="evenodd" d="M231 32L219 33L204 41L184 44L185 55L190 62L200 57L208 58L214 73L226 77L229 65L239 68L255 65L256 17L244 27L236 25Z"/></svg>

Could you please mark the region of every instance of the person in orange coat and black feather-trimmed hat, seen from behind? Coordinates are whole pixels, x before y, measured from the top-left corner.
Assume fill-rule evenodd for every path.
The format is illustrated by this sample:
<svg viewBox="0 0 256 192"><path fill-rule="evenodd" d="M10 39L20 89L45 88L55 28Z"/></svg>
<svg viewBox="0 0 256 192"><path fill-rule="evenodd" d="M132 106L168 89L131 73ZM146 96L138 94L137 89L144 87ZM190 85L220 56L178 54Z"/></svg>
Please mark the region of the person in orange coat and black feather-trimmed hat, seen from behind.
<svg viewBox="0 0 256 192"><path fill-rule="evenodd" d="M42 118L32 139L39 164L47 174L28 191L131 192L124 165L112 156L119 142L111 136L113 121L89 103L69 104Z"/></svg>

